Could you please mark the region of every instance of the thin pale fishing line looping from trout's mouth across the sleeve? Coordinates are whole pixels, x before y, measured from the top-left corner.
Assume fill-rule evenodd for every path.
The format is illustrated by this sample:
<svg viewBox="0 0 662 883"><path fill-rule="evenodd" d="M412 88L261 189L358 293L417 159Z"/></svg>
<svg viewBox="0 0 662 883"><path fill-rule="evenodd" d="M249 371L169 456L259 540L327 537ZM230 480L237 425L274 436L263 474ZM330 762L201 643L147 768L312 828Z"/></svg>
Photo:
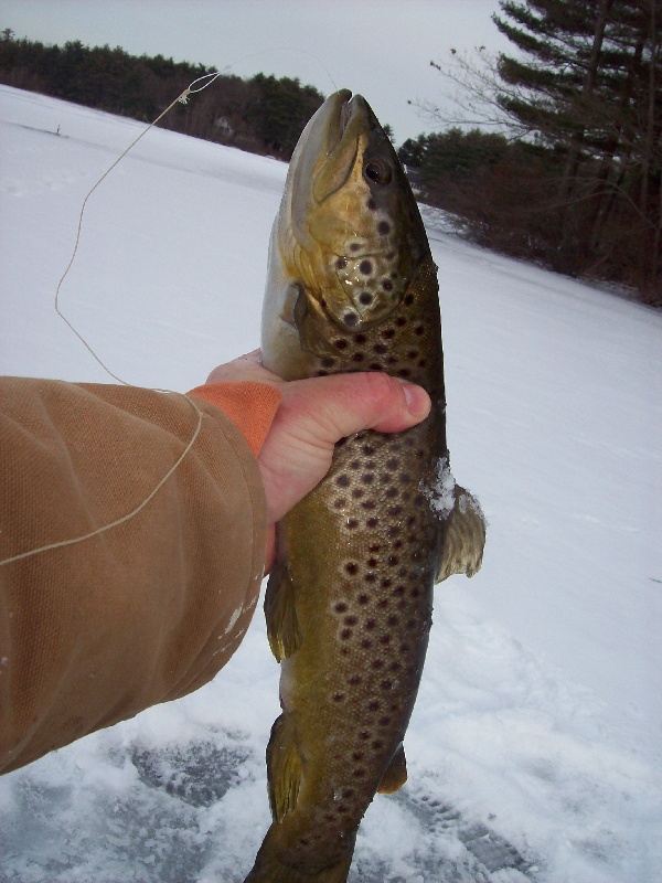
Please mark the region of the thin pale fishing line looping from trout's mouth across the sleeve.
<svg viewBox="0 0 662 883"><path fill-rule="evenodd" d="M57 286L55 288L55 300L54 300L55 312L62 319L62 321L65 322L65 325L68 326L68 328L73 331L73 333L78 338L81 343L85 347L85 349L89 352L89 354L95 359L97 364L99 364L100 368L103 368L103 370L110 377L113 377L113 380L117 381L122 386L131 386L134 384L128 383L127 381L122 380L122 377L118 376L114 371L111 371L108 368L108 365L100 359L100 357L95 352L93 347L87 342L87 340L83 337L83 334L78 331L78 329L73 325L73 322L71 322L66 318L66 316L64 315L64 312L60 308L60 292L61 292L62 286L63 286L64 281L65 281L66 277L68 276L70 270L71 270L72 266L74 265L74 262L75 262L76 256L78 254L78 246L81 244L81 234L82 234L82 230L83 230L83 217L84 217L84 214L85 214L85 209L87 208L87 203L88 203L92 194L95 192L95 190L99 187L99 184L102 184L106 180L106 178L110 174L110 172L115 168L117 168L117 166L127 156L127 153L130 150L132 150L136 147L136 145L138 143L138 141L140 141L141 138L145 138L147 132L150 131L150 129L152 129L158 123L160 123L160 120L163 119L163 117L168 113L170 113L170 110L172 110L172 108L177 104L186 104L188 100L189 100L189 96L190 95L196 95L197 93L202 92L203 89L206 89L207 86L211 86L212 83L214 83L220 76L222 76L224 73L227 73L228 71L231 71L239 62L243 62L246 58L255 57L257 55L264 55L267 52L275 52L275 51L284 50L284 49L285 50L289 50L289 51L300 52L300 53L302 53L305 55L309 55L310 57L316 58L316 61L327 72L327 75L329 76L329 79L333 84L334 91L335 92L338 91L338 87L335 86L335 82L334 82L333 77L331 76L331 74L330 74L329 70L327 68L327 66L323 64L323 62L320 58L318 58L316 55L313 55L311 52L307 52L306 50L292 49L292 47L289 47L289 46L277 46L277 47L274 47L274 49L261 50L260 52L253 52L253 53L249 53L248 55L244 55L241 58L237 58L234 62L232 62L232 64L226 65L221 71L213 71L212 73L203 74L203 76L200 76L200 77L197 77L197 79L194 79L192 83L190 83L189 86L186 86L186 88L181 93L181 95L178 95L178 97L171 104L169 104L168 107L164 110L162 110L159 114L159 116L154 120L152 120L152 123L150 123L140 132L140 135L134 141L131 141L131 143L126 148L126 150L124 150L117 157L117 159L102 174L102 177L98 179L98 181L96 181L96 183L90 188L90 190L88 191L87 195L83 200L83 204L81 205L81 212L78 214L78 223L76 225L76 236L75 236L75 240L74 240L74 248L73 248L73 252L72 252L72 256L71 256L70 262L66 265L66 268L65 268L64 273L62 274L62 276L60 278L60 281L57 283ZM29 550L26 552L21 552L18 555L12 555L11 557L4 558L3 561L0 561L0 567L2 565L4 565L4 564L11 564L13 562L31 557L32 555L36 555L36 554L39 554L41 552L49 552L49 551L54 550L54 549L62 549L64 546L74 545L75 543L82 543L85 540L90 540L94 536L98 536L99 534L105 533L106 531L113 530L113 528L117 528L120 524L124 524L125 522L130 521L142 509L145 509L145 507L156 497L156 494L163 487L163 485L168 481L168 479L181 466L181 464L183 462L185 457L190 454L191 449L193 448L193 445L197 440L197 436L200 435L200 430L202 429L203 413L197 407L195 402L188 395L183 395L182 393L177 393L177 392L174 392L172 390L153 390L153 392L163 393L163 394L167 394L167 395L180 395L183 398L185 398L191 404L191 406L193 407L193 409L195 411L195 413L197 415L197 424L195 426L193 435L191 436L191 439L186 444L186 446L185 446L184 450L182 451L182 454L180 455L180 457L177 459L174 465L166 472L166 475L159 480L159 482L156 485L156 487L142 500L142 502L140 502L130 512L127 512L127 514L121 515L120 518L116 519L115 521L111 521L108 524L104 524L103 526L97 528L94 531L89 531L88 533L81 534L79 536L74 536L74 538L72 538L70 540L61 540L61 541L53 542L53 543L46 543L45 545L39 546L36 549L31 549L31 550Z"/></svg>

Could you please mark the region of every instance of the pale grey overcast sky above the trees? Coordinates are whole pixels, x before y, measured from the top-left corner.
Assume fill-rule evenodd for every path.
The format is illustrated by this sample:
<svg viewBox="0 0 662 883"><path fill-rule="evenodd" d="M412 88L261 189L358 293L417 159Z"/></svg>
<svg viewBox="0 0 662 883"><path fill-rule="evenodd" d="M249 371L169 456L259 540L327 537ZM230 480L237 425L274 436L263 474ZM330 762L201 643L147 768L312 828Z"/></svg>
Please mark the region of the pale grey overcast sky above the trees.
<svg viewBox="0 0 662 883"><path fill-rule="evenodd" d="M0 29L299 77L324 95L350 88L402 143L439 128L415 106L445 102L431 60L508 46L491 20L498 10L498 0L1 0Z"/></svg>

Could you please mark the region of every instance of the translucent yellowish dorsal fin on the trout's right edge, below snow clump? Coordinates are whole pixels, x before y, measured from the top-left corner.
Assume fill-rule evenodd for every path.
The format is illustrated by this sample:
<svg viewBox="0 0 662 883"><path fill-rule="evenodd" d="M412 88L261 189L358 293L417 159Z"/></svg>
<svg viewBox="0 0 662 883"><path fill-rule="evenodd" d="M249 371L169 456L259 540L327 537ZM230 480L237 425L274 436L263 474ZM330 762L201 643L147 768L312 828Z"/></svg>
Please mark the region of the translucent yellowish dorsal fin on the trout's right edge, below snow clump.
<svg viewBox="0 0 662 883"><path fill-rule="evenodd" d="M453 573L473 576L480 571L485 544L485 519L480 503L459 485L455 487L455 506L444 522L444 551L437 583Z"/></svg>

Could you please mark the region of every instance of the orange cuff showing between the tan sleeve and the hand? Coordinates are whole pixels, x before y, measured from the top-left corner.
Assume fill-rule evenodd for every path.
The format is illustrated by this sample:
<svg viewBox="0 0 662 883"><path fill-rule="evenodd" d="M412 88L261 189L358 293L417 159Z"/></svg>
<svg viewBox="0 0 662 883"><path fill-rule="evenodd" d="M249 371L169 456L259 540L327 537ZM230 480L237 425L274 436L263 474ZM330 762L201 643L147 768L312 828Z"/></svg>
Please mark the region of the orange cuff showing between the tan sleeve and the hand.
<svg viewBox="0 0 662 883"><path fill-rule="evenodd" d="M256 457L282 398L274 386L253 381L207 383L191 390L189 395L204 398L221 408L242 433Z"/></svg>

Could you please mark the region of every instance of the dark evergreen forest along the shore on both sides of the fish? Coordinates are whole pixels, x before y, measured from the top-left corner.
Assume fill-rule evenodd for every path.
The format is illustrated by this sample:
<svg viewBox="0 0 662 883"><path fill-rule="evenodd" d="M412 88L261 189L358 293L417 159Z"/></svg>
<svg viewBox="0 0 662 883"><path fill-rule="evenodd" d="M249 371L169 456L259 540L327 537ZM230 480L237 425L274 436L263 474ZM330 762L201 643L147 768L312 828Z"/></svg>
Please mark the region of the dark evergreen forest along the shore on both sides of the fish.
<svg viewBox="0 0 662 883"><path fill-rule="evenodd" d="M462 235L662 306L660 0L500 0L512 54L430 62L466 119L405 141L418 198ZM211 68L0 34L0 83L143 121ZM324 96L298 79L225 74L159 124L289 160Z"/></svg>

